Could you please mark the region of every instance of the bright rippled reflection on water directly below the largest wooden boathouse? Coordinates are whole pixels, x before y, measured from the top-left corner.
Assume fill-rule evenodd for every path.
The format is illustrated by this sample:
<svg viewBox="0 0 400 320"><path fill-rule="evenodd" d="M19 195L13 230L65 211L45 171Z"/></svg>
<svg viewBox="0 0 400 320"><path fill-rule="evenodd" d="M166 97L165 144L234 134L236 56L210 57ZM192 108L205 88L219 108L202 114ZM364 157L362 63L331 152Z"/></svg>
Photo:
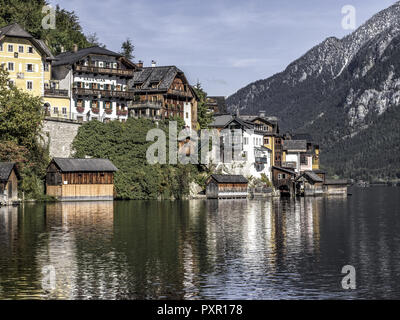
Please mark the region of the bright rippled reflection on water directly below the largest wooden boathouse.
<svg viewBox="0 0 400 320"><path fill-rule="evenodd" d="M109 241L107 235L113 232L113 215L111 202L66 202L46 206L48 233L41 238L36 259L39 274L45 266L55 268L56 290L44 297L72 299L90 297L94 292L96 297L102 297L104 283L109 281L105 279L112 276L112 272L98 268L101 257L90 251L93 246L104 248L104 238Z"/></svg>

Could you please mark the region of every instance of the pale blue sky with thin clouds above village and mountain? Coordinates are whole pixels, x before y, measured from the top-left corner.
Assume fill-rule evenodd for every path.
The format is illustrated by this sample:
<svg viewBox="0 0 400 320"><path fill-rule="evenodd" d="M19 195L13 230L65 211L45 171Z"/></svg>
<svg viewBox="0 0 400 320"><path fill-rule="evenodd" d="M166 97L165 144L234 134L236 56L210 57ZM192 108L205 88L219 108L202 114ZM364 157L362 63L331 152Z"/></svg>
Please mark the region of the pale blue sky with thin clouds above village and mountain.
<svg viewBox="0 0 400 320"><path fill-rule="evenodd" d="M395 0L50 0L74 11L85 34L135 59L176 65L209 96L229 96L283 71L327 37L342 38L345 5L356 26Z"/></svg>

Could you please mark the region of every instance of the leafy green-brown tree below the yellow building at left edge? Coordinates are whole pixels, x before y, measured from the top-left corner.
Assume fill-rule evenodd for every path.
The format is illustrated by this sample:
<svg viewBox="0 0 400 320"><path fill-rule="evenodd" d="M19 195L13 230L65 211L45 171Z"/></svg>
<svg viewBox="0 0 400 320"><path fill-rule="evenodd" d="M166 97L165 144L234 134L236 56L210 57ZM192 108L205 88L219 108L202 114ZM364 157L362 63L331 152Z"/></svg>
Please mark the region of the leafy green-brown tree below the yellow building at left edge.
<svg viewBox="0 0 400 320"><path fill-rule="evenodd" d="M0 68L0 161L17 162L27 198L44 197L43 177L49 163L48 149L41 143L42 100L8 82Z"/></svg>

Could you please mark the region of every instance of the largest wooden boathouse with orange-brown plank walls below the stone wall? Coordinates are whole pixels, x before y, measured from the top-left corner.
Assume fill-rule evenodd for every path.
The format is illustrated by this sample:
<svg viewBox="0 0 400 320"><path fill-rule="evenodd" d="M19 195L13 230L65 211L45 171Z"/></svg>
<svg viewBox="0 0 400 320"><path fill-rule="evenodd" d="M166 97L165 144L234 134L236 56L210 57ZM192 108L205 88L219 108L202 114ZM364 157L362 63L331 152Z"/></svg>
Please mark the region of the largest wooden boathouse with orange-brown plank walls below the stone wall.
<svg viewBox="0 0 400 320"><path fill-rule="evenodd" d="M60 201L114 199L114 173L107 159L54 158L47 168L46 194Z"/></svg>

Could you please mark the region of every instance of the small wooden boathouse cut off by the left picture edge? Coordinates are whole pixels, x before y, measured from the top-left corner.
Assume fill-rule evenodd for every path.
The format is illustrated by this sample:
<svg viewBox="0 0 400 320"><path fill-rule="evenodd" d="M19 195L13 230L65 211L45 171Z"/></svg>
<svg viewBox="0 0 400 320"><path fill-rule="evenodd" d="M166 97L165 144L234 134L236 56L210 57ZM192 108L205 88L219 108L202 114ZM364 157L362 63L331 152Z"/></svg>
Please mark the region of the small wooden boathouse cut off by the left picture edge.
<svg viewBox="0 0 400 320"><path fill-rule="evenodd" d="M19 174L14 162L0 162L0 205L18 201Z"/></svg>

